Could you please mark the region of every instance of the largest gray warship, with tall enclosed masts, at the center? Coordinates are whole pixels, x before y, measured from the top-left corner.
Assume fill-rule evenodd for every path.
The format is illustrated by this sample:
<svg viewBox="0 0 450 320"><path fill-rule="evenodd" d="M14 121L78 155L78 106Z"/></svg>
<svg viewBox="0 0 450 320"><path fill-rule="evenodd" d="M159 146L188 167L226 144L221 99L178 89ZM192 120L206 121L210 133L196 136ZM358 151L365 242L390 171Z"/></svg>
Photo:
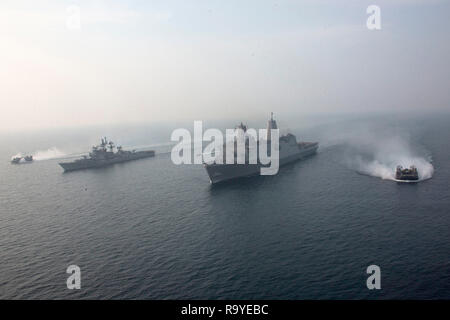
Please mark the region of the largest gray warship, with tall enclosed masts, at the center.
<svg viewBox="0 0 450 320"><path fill-rule="evenodd" d="M247 130L247 127L242 123L237 127L242 129L243 132ZM270 144L270 130L278 129L276 121L273 119L273 113L271 114L270 120L267 125L267 143ZM246 149L248 151L248 137L246 139ZM259 148L260 142L257 142L257 147ZM279 166L284 166L288 163L303 159L310 155L316 153L319 147L318 142L297 142L297 138L293 134L286 134L279 139ZM267 147L270 150L270 147ZM236 149L235 149L236 150ZM225 159L225 145L224 145L224 159ZM237 164L236 162L236 151L235 151L235 163L234 164L223 164L216 163L216 161L210 163L204 163L203 166L208 173L209 180L211 184L241 178L253 175L258 175L260 173L261 165L259 160L256 164L250 164L248 161L248 152L246 152L246 158L244 164Z"/></svg>

